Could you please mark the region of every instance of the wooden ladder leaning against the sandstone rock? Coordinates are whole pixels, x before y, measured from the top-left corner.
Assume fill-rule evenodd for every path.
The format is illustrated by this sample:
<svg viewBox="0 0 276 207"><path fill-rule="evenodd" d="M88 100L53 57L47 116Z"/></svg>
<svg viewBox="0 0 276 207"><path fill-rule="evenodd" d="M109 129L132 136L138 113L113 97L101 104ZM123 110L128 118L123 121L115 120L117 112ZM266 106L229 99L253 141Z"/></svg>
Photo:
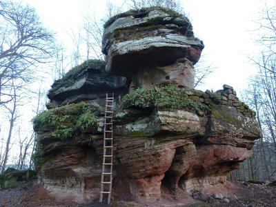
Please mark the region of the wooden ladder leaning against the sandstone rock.
<svg viewBox="0 0 276 207"><path fill-rule="evenodd" d="M112 164L113 164L113 101L112 97L106 94L106 112L103 125L103 165L101 170L101 194L99 202L103 202L103 195L108 195L108 204L110 204L112 189Z"/></svg>

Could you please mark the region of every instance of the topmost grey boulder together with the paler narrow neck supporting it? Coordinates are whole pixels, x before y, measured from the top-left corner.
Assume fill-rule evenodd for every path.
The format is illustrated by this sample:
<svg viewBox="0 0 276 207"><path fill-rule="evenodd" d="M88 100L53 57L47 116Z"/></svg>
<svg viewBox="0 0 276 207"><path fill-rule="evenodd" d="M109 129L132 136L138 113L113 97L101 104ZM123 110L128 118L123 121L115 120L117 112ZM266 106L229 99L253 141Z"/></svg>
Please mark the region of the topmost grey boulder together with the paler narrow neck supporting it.
<svg viewBox="0 0 276 207"><path fill-rule="evenodd" d="M132 88L174 83L193 88L204 48L187 17L164 8L118 14L105 25L106 71L132 80Z"/></svg>

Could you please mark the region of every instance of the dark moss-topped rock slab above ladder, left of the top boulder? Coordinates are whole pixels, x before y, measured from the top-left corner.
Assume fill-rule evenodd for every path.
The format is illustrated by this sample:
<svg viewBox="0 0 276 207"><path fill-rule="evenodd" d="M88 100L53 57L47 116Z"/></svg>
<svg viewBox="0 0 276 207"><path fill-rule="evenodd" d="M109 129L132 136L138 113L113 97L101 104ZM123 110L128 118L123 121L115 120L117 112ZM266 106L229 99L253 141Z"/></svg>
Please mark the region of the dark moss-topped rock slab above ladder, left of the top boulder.
<svg viewBox="0 0 276 207"><path fill-rule="evenodd" d="M115 92L118 95L126 93L126 77L106 74L105 65L104 61L100 60L85 61L80 66L72 68L65 77L55 81L48 92L53 106L96 99L99 103L100 99L105 99L106 92Z"/></svg>

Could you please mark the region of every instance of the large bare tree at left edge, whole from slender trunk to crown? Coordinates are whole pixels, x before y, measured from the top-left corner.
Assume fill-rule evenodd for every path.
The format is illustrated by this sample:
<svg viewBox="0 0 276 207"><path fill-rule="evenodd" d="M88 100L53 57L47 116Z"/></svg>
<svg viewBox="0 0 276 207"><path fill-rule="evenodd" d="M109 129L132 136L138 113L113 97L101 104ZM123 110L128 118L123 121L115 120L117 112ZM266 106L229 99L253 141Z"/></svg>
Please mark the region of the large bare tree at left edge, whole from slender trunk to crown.
<svg viewBox="0 0 276 207"><path fill-rule="evenodd" d="M55 46L52 34L43 28L36 12L28 5L0 1L0 22L0 107L1 112L8 114L9 121L2 142L6 145L1 152L3 172L12 147L14 124L19 119L17 110L25 98L24 90L38 77L39 69L34 66L49 62Z"/></svg>

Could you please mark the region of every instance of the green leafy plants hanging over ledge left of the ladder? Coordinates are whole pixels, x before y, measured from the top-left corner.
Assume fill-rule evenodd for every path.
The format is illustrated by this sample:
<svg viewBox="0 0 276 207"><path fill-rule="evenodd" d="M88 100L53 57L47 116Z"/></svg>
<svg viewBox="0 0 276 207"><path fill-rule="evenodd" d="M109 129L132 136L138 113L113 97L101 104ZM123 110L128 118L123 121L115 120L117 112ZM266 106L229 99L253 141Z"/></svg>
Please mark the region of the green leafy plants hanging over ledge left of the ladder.
<svg viewBox="0 0 276 207"><path fill-rule="evenodd" d="M72 138L90 126L97 126L100 111L99 105L87 102L46 110L32 119L34 131L49 128L52 137L61 140Z"/></svg>

